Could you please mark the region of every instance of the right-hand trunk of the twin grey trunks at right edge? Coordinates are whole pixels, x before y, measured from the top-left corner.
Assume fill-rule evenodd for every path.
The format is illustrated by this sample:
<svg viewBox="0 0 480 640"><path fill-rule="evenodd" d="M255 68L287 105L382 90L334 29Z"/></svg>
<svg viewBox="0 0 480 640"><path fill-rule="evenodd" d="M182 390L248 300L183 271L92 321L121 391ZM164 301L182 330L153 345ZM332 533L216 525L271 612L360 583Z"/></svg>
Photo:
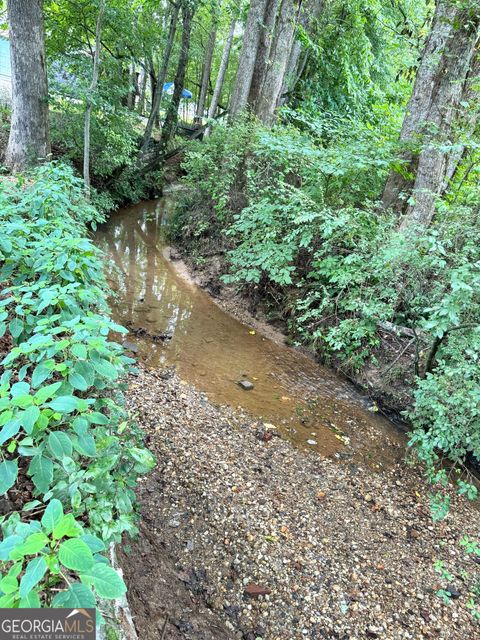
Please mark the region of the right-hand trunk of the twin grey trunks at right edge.
<svg viewBox="0 0 480 640"><path fill-rule="evenodd" d="M418 154L415 182L400 224L402 231L413 226L428 227L435 214L435 204L442 194L447 172L448 156L443 148L451 144L454 122L461 116L460 102L473 62L479 24L479 9L472 16L471 10L457 8L453 16L453 30L434 78L431 104L425 119L430 131L425 133Z"/></svg>

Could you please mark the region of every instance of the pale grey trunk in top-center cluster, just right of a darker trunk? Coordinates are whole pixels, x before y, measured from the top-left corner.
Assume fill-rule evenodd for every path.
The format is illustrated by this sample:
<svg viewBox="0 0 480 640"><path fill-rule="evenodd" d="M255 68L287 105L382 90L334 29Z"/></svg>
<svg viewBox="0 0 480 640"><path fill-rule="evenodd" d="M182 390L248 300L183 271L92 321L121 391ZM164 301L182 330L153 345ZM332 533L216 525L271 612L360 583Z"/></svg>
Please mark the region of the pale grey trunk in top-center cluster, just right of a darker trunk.
<svg viewBox="0 0 480 640"><path fill-rule="evenodd" d="M297 7L295 0L283 0L280 8L275 39L255 110L258 118L266 125L271 125L275 119L275 109L280 99L285 71L292 50Z"/></svg>

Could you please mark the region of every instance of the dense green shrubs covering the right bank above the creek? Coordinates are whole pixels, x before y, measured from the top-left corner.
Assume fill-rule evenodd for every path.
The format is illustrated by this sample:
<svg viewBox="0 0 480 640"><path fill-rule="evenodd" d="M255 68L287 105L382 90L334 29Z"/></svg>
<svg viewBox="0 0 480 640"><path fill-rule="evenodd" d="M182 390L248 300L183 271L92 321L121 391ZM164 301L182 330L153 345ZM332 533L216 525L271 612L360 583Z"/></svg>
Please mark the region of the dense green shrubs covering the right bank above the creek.
<svg viewBox="0 0 480 640"><path fill-rule="evenodd" d="M173 233L200 255L221 239L225 282L269 300L297 340L349 375L369 370L378 386L400 387L393 401L411 407L412 444L443 482L443 456L462 470L480 458L475 170L452 185L434 226L406 238L378 203L395 153L391 120L325 114L315 130L217 128L187 155Z"/></svg>

